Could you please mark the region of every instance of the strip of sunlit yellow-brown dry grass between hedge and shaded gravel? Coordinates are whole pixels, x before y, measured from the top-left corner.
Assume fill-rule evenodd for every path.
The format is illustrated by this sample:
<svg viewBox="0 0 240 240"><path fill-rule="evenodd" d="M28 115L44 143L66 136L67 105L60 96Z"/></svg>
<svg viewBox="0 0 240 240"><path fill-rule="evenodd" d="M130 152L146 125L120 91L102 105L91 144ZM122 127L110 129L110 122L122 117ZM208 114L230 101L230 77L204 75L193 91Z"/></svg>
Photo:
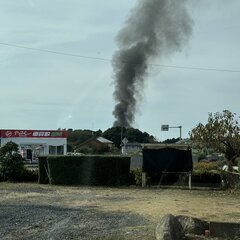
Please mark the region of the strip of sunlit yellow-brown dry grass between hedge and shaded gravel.
<svg viewBox="0 0 240 240"><path fill-rule="evenodd" d="M0 204L28 202L71 208L93 206L101 211L141 214L151 222L167 213L208 221L240 222L239 192L0 183L0 193Z"/></svg>

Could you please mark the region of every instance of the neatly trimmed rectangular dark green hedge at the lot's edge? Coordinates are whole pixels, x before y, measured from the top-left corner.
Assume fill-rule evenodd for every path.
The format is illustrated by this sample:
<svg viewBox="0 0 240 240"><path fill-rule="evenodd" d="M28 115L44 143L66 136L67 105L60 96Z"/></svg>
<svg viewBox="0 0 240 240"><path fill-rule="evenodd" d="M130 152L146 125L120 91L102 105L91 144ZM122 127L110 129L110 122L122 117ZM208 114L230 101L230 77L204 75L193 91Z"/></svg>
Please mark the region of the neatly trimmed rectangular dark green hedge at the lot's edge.
<svg viewBox="0 0 240 240"><path fill-rule="evenodd" d="M130 157L50 156L47 162L50 184L94 186L129 184Z"/></svg>

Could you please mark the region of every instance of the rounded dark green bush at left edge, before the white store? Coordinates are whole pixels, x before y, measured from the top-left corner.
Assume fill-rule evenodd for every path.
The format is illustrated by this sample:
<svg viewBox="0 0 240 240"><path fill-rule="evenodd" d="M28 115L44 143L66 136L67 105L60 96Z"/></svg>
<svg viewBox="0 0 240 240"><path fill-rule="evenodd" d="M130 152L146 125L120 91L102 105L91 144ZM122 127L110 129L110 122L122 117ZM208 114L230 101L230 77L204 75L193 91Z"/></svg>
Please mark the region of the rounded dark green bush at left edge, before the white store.
<svg viewBox="0 0 240 240"><path fill-rule="evenodd" d="M8 142L0 148L0 173L4 180L16 180L24 170L23 158L18 152L18 145Z"/></svg>

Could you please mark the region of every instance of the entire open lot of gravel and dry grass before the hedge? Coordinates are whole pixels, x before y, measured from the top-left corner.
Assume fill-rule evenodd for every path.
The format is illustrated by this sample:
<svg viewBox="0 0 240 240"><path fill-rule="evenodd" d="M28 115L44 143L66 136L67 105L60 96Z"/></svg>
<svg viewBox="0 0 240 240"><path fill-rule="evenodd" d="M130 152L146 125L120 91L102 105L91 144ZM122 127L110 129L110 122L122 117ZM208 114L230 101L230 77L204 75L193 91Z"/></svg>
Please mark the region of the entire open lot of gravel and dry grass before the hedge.
<svg viewBox="0 0 240 240"><path fill-rule="evenodd" d="M155 239L163 215L240 222L240 193L0 183L0 239Z"/></svg>

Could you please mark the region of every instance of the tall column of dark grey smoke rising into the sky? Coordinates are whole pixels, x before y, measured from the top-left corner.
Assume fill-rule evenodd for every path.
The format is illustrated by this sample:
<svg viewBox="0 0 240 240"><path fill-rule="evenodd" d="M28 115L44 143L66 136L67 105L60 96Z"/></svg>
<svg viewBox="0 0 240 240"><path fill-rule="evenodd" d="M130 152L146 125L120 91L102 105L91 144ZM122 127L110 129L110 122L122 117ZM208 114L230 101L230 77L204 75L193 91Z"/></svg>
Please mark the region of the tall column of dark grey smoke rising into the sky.
<svg viewBox="0 0 240 240"><path fill-rule="evenodd" d="M139 0L117 35L112 60L115 74L114 126L134 123L149 60L180 51L192 32L187 0Z"/></svg>

